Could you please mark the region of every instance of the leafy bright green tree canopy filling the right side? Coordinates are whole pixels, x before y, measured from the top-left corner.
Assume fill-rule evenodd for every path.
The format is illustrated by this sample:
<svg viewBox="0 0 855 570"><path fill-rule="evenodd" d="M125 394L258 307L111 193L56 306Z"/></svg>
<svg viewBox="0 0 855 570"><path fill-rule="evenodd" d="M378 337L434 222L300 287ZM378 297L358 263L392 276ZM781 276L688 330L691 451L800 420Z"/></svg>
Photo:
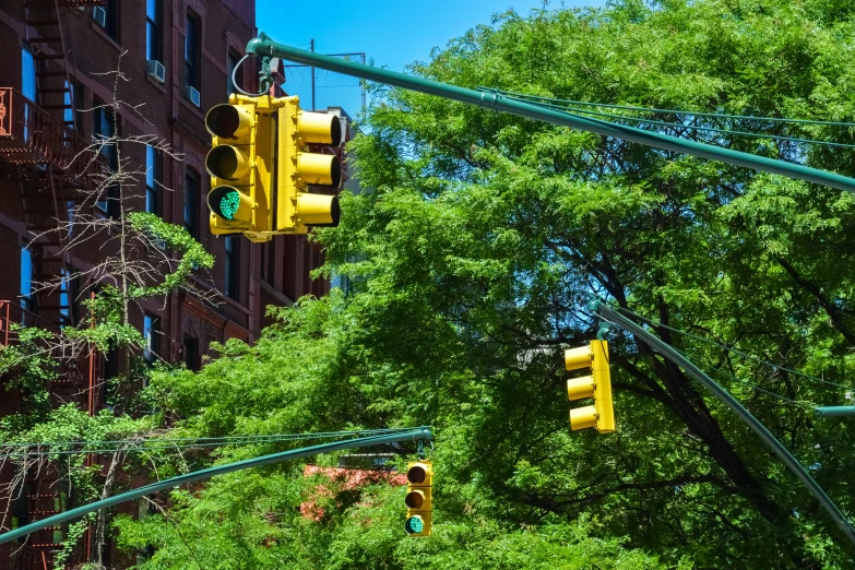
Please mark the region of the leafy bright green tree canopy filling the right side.
<svg viewBox="0 0 855 570"><path fill-rule="evenodd" d="M744 116L853 121L854 31L842 0L625 0L498 14L411 72L677 109L644 114L674 123L646 127L846 175L851 149L783 138L853 143L852 127ZM855 512L855 426L810 409L845 403L854 384L855 198L375 95L349 149L364 191L317 233L324 271L353 292L273 309L280 323L254 346L230 341L200 373L164 371L151 390L205 436L434 426L434 536L404 537L400 489L340 489L284 465L120 520L126 546L156 547L142 568L855 568L795 477L643 343L609 333L611 436L569 430L562 361L596 334L592 296L648 319ZM318 485L319 519L299 509Z"/></svg>

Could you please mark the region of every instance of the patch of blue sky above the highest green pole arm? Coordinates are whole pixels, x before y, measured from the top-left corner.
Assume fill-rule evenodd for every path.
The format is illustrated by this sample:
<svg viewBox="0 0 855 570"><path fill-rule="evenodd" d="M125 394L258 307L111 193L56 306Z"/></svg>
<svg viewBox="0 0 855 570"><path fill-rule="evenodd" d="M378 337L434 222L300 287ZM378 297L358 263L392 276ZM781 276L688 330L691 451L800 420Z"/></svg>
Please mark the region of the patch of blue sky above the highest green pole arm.
<svg viewBox="0 0 855 570"><path fill-rule="evenodd" d="M603 5L605 0L550 0L549 9ZM363 2L283 2L257 0L259 29L276 41L321 54L365 52L376 66L403 71L429 59L434 47L462 36L490 15L513 8L527 14L543 0L367 0Z"/></svg>

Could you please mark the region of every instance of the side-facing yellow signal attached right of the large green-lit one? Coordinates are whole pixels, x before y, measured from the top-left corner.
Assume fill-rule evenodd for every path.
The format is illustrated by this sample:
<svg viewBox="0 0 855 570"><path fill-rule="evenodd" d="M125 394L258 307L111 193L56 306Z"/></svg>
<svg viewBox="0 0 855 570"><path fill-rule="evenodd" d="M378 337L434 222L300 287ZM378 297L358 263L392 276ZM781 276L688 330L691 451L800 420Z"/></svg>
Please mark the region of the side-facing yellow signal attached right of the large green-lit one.
<svg viewBox="0 0 855 570"><path fill-rule="evenodd" d="M311 194L309 185L339 188L342 167L339 157L308 152L308 144L336 146L342 141L339 118L300 109L299 97L278 99L278 147L276 173L276 231L306 234L307 226L337 226L339 198Z"/></svg>

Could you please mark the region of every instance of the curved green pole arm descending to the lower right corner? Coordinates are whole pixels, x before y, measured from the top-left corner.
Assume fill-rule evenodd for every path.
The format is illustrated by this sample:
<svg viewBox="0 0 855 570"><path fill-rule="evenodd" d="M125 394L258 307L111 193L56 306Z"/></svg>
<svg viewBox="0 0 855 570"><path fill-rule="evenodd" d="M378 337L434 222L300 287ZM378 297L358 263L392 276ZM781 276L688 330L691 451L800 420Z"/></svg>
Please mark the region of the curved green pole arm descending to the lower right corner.
<svg viewBox="0 0 855 570"><path fill-rule="evenodd" d="M698 380L704 387L706 387L724 405L731 408L739 419L748 424L751 430L760 436L763 443L767 444L781 461L792 471L796 477L808 488L808 490L816 497L816 499L828 511L834 522L840 526L843 533L848 537L853 545L855 545L855 527L853 527L850 520L840 511L834 501L826 495L814 477L801 466L796 458L781 443L771 431L769 431L764 425L760 423L743 404L740 404L734 396L731 395L724 388L722 388L715 380L703 373L700 368L694 366L689 359L677 352L673 346L658 339L648 331L645 331L638 323L627 319L619 312L611 309L608 305L602 300L593 300L589 304L587 308L597 314L598 317L617 324L618 326L631 332L637 339L644 342L665 358L682 368L688 375Z"/></svg>

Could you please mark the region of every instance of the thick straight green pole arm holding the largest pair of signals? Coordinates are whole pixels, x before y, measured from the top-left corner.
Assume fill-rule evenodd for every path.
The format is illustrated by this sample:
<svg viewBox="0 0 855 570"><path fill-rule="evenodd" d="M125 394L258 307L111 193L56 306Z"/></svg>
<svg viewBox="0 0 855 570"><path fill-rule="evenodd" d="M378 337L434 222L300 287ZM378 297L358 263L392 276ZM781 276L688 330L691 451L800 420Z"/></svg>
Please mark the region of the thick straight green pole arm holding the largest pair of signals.
<svg viewBox="0 0 855 570"><path fill-rule="evenodd" d="M378 83L403 87L405 90L427 93L446 99L468 103L477 107L510 112L511 115L519 115L530 119L561 124L605 136L614 136L616 139L644 144L646 146L664 149L666 151L674 151L712 161L721 161L723 163L751 168L752 170L776 174L786 176L787 178L806 180L808 182L845 190L847 192L855 192L855 179L847 176L841 176L839 174L798 164L774 161L749 153L731 151L728 149L722 149L721 146L703 144L657 132L650 132L634 127L582 117L571 112L546 109L537 105L532 105L531 103L506 97L498 93L478 92L424 78L416 78L385 69L373 68L354 61L331 58L313 51L306 51L305 49L277 44L263 33L260 34L259 37L249 40L249 44L247 44L247 55L287 59L298 63L335 71L345 75L353 75ZM266 69L269 73L270 66L263 67L262 69Z"/></svg>

